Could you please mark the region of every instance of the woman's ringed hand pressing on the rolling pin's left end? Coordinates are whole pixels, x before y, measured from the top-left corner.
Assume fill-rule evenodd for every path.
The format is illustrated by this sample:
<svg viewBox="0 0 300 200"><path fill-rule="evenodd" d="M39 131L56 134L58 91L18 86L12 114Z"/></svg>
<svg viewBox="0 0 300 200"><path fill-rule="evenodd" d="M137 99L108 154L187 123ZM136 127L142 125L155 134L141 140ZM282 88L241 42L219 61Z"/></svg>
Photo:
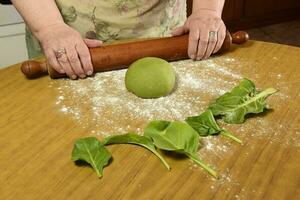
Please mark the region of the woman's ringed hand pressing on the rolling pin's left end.
<svg viewBox="0 0 300 200"><path fill-rule="evenodd" d="M88 47L98 47L99 40L83 39L64 23L49 25L36 34L48 62L59 73L71 79L85 78L93 74L93 65Z"/></svg>

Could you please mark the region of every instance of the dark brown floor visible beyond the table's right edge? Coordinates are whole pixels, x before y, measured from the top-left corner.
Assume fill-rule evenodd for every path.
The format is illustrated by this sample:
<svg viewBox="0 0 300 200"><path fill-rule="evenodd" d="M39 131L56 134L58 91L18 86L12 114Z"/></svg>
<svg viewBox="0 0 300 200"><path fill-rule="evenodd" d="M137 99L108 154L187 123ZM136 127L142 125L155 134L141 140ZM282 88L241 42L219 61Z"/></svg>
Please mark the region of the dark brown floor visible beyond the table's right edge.
<svg viewBox="0 0 300 200"><path fill-rule="evenodd" d="M300 47L300 20L246 30L250 38Z"/></svg>

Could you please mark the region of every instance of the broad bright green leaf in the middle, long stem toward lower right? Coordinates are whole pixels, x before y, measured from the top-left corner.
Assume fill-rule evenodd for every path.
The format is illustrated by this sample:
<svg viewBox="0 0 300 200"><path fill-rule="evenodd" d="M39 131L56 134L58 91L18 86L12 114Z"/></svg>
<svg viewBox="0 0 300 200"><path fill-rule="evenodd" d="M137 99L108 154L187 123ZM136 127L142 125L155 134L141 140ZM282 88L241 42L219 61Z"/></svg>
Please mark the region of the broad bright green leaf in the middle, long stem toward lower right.
<svg viewBox="0 0 300 200"><path fill-rule="evenodd" d="M151 138L159 149L187 155L217 178L217 173L198 157L199 135L188 124L178 121L152 121L145 128L144 136Z"/></svg>

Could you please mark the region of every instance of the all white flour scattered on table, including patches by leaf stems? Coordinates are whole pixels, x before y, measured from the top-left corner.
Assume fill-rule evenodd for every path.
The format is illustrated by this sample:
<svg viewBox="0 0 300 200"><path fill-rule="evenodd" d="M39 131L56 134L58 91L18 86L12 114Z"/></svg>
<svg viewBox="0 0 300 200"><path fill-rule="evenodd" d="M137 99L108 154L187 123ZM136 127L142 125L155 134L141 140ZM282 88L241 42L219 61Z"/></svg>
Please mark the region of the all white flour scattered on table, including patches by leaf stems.
<svg viewBox="0 0 300 200"><path fill-rule="evenodd" d="M277 59L277 58L273 58ZM85 128L90 135L108 136L136 132L142 134L144 126L154 119L184 120L187 116L201 113L209 101L233 88L243 77L256 80L272 79L280 92L273 95L270 104L274 110L280 110L290 99L289 87L282 81L286 74L281 73L279 67L273 72L261 74L259 68L252 68L253 63L241 61L233 57L222 56L205 61L191 60L173 62L177 75L177 85L174 92L158 99L141 99L129 93L124 84L126 70L98 73L93 78L84 80L58 80L58 109L72 117L76 123ZM257 71L255 71L257 70ZM246 75L246 76L245 76ZM256 82L257 83L257 82ZM54 83L53 83L54 84ZM259 83L257 83L260 85ZM220 126L232 131L244 143L254 140L268 140L280 145L300 147L300 130L294 130L292 138L283 137L289 125L269 120L266 116L249 118L242 125L228 125L218 121ZM255 127L255 130L254 128ZM271 134L270 134L271 133ZM220 161L229 158L239 146L220 137L205 137L201 140L199 156L206 163L218 167ZM252 145L248 145L244 156L251 153ZM194 163L189 169L201 170ZM223 187L224 192L238 191L234 199L247 199L249 194L260 191L250 191L240 188L240 183L230 169L220 171L220 179L212 179L212 191Z"/></svg>

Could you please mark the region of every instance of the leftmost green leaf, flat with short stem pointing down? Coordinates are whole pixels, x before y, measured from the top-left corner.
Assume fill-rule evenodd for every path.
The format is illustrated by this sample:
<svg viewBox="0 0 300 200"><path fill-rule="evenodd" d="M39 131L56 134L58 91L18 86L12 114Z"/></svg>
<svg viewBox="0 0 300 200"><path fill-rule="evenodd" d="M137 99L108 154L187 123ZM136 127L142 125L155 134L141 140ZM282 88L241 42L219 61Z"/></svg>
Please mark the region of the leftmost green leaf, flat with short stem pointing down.
<svg viewBox="0 0 300 200"><path fill-rule="evenodd" d="M110 152L95 137L81 138L74 144L72 160L82 160L89 163L98 177L102 177L103 168L108 165L110 159Z"/></svg>

